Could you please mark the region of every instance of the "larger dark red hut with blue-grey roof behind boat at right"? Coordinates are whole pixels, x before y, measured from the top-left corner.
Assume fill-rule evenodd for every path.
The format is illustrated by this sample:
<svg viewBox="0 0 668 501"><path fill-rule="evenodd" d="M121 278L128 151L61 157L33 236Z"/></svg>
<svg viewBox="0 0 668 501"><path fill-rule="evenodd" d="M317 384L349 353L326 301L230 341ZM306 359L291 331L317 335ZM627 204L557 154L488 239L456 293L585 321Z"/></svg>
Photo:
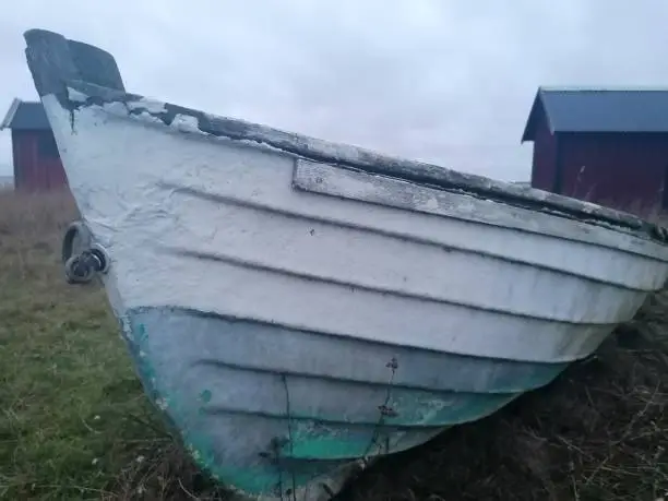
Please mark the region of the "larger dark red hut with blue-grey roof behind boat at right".
<svg viewBox="0 0 668 501"><path fill-rule="evenodd" d="M668 208L668 91L539 88L532 187L641 216Z"/></svg>

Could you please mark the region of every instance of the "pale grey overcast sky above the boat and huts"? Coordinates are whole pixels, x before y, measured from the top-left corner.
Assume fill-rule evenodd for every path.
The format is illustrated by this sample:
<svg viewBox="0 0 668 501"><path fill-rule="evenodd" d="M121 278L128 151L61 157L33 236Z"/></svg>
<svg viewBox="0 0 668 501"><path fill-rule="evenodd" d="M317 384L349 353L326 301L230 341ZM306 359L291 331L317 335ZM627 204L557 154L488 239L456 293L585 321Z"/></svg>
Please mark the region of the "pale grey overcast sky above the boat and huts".
<svg viewBox="0 0 668 501"><path fill-rule="evenodd" d="M22 33L43 27L109 50L131 92L526 180L537 87L668 87L667 25L666 0L20 0L0 115L37 97Z"/></svg>

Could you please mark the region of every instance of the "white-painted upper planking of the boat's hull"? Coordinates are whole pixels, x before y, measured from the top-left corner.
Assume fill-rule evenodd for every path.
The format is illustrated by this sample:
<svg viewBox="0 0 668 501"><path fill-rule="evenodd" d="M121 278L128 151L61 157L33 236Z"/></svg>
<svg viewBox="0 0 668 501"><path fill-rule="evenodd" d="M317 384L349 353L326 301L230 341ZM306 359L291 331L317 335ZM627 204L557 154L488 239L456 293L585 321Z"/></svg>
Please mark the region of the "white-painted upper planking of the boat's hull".
<svg viewBox="0 0 668 501"><path fill-rule="evenodd" d="M45 105L82 214L114 260L119 312L174 305L558 362L589 355L666 279L665 261L612 248L303 192L279 152L95 107L75 112L74 134L70 114Z"/></svg>

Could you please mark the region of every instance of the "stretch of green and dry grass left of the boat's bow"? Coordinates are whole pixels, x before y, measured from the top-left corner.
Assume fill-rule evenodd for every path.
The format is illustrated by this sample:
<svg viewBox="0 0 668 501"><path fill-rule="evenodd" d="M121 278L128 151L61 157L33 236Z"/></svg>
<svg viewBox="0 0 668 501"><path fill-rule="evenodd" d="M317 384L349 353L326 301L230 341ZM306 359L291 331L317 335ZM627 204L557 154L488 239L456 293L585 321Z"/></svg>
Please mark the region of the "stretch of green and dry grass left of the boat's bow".
<svg viewBox="0 0 668 501"><path fill-rule="evenodd" d="M75 217L63 194L0 194L0 498L203 492L144 397L103 291L64 283L60 239Z"/></svg>

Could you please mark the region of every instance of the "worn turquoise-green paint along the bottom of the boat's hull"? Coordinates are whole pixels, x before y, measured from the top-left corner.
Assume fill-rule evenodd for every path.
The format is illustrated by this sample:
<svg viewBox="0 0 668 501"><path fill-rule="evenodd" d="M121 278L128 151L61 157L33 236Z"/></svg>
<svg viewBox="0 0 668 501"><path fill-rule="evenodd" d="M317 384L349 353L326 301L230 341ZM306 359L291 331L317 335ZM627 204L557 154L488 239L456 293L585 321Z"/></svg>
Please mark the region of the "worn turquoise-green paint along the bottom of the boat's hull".
<svg viewBox="0 0 668 501"><path fill-rule="evenodd" d="M159 370L168 369L153 366L156 358L152 356L155 354L151 353L148 343L148 336L153 334L146 325L128 321L123 332L146 393L179 431L198 465L223 484L249 496L281 496L282 490L285 494L286 489L307 486L345 463L410 449L453 424L492 414L521 394L472 394L466 405L461 401L453 405L453 394L449 392L443 392L442 397L436 392L404 392L394 398L390 392L386 407L392 411L381 413L379 409L375 426L360 427L344 416L326 416L326 419L323 416L300 416L300 419L293 416L288 419L286 416L286 432L277 437L279 443L273 453L269 452L271 448L267 444L266 450L258 450L257 460L249 460L247 455L244 464L230 464L220 461L216 448L224 444L214 443L211 430L204 426L211 421L203 420L203 409L213 397L207 381L202 381L202 387L193 395L167 389L159 378ZM535 383L534 380L516 381L518 387L533 387ZM397 426L409 427L397 429ZM248 432L253 433L252 428Z"/></svg>

